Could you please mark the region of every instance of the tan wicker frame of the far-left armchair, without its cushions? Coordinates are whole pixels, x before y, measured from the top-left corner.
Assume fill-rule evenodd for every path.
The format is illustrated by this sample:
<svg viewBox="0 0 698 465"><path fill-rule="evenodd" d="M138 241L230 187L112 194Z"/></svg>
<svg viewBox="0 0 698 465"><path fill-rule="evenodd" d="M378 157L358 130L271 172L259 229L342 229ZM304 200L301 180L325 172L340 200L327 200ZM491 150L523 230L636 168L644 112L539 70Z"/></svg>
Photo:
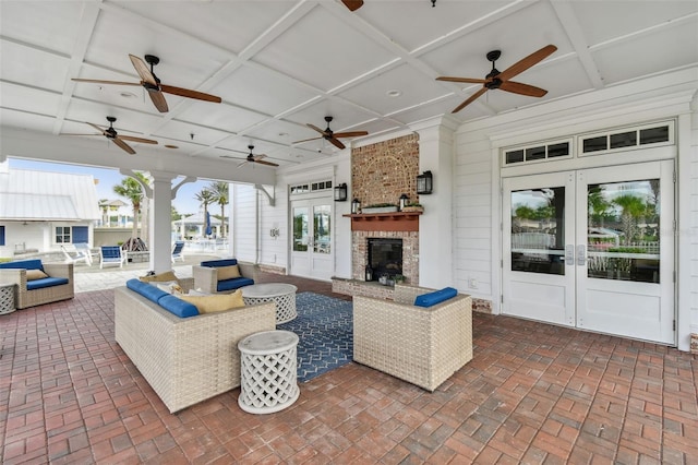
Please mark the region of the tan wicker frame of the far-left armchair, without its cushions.
<svg viewBox="0 0 698 465"><path fill-rule="evenodd" d="M27 290L26 269L0 267L0 282L16 284L17 290L14 305L17 309L25 309L75 297L72 263L45 263L43 266L46 274L51 277L68 278L68 284Z"/></svg>

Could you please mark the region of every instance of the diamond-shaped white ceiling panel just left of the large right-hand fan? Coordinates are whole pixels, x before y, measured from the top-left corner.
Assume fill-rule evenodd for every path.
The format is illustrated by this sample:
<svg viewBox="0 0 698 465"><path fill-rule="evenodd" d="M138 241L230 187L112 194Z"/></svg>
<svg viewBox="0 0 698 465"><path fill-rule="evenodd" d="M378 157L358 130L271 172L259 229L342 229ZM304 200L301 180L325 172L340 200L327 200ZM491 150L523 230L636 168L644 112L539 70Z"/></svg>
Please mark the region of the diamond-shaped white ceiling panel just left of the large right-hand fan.
<svg viewBox="0 0 698 465"><path fill-rule="evenodd" d="M386 115L447 94L443 86L410 64L402 64L339 93L340 97Z"/></svg>

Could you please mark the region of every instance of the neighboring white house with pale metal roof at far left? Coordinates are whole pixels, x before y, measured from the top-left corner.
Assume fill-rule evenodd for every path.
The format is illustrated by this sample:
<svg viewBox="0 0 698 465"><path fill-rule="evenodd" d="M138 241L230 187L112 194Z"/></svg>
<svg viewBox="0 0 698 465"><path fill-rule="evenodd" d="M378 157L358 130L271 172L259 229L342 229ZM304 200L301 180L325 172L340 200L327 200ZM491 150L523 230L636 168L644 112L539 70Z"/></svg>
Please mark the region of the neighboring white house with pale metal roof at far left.
<svg viewBox="0 0 698 465"><path fill-rule="evenodd" d="M8 162L0 163L0 255L92 245L100 216L92 176L10 169Z"/></svg>

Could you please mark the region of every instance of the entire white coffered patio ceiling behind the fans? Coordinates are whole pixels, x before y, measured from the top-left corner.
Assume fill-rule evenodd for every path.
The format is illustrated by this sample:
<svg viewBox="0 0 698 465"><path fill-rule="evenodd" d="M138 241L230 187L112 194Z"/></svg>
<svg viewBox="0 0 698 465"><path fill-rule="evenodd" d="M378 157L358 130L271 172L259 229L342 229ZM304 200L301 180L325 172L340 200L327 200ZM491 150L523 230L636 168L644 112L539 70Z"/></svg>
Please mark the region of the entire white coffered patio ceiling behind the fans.
<svg viewBox="0 0 698 465"><path fill-rule="evenodd" d="M335 132L373 140L449 114L481 85L435 78L483 79L494 49L503 71L555 45L516 76L549 92L490 91L458 121L698 64L698 1L364 0L351 12L338 0L2 0L0 17L2 130L60 143L115 116L120 134L158 141L132 143L135 156L170 151L231 167L240 162L221 157L242 159L250 144L280 166L332 156L322 139L293 143L320 135L306 123L324 129L325 116ZM129 53L159 57L164 84L222 103L165 94L170 111L160 114L143 87L71 80L139 82Z"/></svg>

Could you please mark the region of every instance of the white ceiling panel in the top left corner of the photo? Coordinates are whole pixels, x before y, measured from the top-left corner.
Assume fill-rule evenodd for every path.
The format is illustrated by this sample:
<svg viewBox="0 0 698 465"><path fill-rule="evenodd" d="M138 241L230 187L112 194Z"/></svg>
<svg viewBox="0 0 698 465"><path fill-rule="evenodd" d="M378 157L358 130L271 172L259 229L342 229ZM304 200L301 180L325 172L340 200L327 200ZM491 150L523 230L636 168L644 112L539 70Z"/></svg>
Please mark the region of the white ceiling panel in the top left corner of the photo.
<svg viewBox="0 0 698 465"><path fill-rule="evenodd" d="M0 31L3 37L69 55L75 47L83 8L79 1L3 0Z"/></svg>

